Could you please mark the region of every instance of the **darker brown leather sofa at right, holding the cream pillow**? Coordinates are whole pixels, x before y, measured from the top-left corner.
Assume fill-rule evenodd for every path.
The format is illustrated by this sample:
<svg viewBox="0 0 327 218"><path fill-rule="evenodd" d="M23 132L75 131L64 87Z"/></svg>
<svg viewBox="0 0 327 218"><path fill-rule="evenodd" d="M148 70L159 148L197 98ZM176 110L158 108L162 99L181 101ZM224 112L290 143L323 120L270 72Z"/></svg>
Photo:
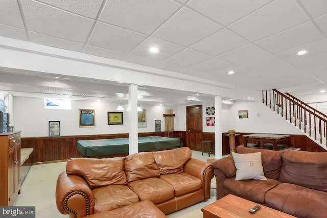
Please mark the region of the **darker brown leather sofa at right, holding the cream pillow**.
<svg viewBox="0 0 327 218"><path fill-rule="evenodd" d="M327 152L237 147L241 154L259 151L267 180L235 180L232 156L213 163L217 200L234 194L296 217L326 217Z"/></svg>

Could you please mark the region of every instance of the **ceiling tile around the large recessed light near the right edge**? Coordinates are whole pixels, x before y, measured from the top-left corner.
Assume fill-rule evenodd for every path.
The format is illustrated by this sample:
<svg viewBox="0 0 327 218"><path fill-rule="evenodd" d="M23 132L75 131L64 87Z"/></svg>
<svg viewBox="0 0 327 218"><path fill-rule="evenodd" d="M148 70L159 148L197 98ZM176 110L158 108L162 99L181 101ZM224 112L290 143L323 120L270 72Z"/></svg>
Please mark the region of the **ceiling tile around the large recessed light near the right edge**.
<svg viewBox="0 0 327 218"><path fill-rule="evenodd" d="M295 55L296 52L301 50L309 51L306 55ZM327 41L325 39L319 39L317 41L313 41L310 43L306 43L300 46L296 46L285 51L277 52L274 55L285 60L285 61L299 61L301 62L303 59L308 59L310 56L314 56L316 54L327 52ZM326 57L327 59L327 57Z"/></svg>

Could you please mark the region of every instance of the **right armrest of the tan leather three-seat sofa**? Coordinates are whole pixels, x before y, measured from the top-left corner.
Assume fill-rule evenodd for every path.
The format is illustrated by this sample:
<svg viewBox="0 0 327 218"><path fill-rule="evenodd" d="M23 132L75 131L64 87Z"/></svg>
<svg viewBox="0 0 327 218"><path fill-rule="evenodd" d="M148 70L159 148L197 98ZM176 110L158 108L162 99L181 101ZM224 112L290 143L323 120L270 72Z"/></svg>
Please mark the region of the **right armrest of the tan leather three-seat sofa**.
<svg viewBox="0 0 327 218"><path fill-rule="evenodd" d="M213 178L212 163L206 163L194 158L191 158L184 164L184 172L191 176L197 177L202 181L202 186L205 191L204 199L210 198L210 186Z"/></svg>

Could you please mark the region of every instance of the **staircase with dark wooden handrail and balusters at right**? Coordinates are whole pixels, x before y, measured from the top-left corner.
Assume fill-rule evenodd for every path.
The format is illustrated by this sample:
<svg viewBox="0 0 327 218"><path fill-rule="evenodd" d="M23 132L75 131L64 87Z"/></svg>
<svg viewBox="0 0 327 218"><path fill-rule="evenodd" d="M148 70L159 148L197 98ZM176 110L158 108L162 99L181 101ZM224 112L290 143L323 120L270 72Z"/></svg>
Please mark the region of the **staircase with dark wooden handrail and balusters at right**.
<svg viewBox="0 0 327 218"><path fill-rule="evenodd" d="M327 116L289 93L276 89L262 92L262 103L300 129L307 137L327 150Z"/></svg>

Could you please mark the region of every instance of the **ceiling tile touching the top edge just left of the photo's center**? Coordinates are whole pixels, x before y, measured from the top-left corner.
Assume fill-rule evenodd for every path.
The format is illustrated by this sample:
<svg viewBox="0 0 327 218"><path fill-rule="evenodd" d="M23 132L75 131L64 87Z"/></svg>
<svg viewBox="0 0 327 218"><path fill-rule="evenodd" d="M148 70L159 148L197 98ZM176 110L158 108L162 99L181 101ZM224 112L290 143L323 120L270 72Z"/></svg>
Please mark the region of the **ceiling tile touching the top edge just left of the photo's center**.
<svg viewBox="0 0 327 218"><path fill-rule="evenodd" d="M99 20L115 26L150 34L179 7L179 4L167 0L108 0Z"/></svg>

